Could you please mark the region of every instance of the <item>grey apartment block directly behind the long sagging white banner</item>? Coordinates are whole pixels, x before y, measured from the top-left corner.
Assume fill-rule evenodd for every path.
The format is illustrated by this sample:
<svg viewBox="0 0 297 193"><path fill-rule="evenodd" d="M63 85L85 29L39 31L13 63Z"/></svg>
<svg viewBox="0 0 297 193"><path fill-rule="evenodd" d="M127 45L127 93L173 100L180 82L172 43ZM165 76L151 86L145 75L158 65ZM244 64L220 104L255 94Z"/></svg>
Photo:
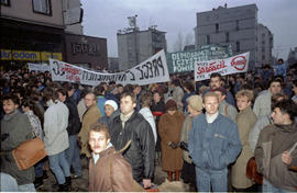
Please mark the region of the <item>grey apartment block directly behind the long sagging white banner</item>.
<svg viewBox="0 0 297 193"><path fill-rule="evenodd" d="M146 31L139 31L138 27L129 32L119 31L117 33L119 70L132 68L162 49L166 52L165 34L153 27Z"/></svg>

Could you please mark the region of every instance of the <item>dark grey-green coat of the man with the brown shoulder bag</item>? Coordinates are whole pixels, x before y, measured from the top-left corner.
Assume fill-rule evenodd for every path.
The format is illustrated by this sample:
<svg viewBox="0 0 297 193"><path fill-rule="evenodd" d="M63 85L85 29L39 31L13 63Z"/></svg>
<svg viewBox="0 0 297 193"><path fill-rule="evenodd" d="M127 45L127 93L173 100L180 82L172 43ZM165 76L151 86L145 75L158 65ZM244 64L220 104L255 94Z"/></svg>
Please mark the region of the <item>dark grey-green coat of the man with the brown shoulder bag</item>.
<svg viewBox="0 0 297 193"><path fill-rule="evenodd" d="M1 172L8 173L16 179L19 185L33 183L35 178L34 167L26 170L19 170L12 150L26 139L33 138L32 127L26 115L18 110L12 115L4 115L1 121Z"/></svg>

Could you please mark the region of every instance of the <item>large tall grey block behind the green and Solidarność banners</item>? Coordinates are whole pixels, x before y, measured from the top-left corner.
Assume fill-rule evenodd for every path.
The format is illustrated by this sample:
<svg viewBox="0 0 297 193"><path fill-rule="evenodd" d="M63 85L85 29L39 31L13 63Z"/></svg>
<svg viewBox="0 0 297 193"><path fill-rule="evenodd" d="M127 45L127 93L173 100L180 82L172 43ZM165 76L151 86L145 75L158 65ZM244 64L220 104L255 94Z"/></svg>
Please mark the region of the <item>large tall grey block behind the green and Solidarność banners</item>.
<svg viewBox="0 0 297 193"><path fill-rule="evenodd" d="M219 7L197 13L196 47L206 44L231 45L233 54L250 52L249 70L258 68L256 54L257 7Z"/></svg>

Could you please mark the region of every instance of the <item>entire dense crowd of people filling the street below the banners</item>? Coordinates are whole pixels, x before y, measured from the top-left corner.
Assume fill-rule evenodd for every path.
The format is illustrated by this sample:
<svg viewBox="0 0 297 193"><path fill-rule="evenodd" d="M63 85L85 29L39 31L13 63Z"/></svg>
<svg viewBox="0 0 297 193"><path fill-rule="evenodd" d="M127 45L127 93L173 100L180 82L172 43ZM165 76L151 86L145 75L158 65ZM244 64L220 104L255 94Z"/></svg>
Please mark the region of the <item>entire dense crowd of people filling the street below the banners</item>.
<svg viewBox="0 0 297 193"><path fill-rule="evenodd" d="M297 191L297 69L279 59L274 71L170 79L89 87L0 71L1 191L35 191L46 166L72 191L81 159L91 192L150 189L156 166L199 192ZM12 150L34 137L47 157L19 170ZM252 158L263 184L246 175Z"/></svg>

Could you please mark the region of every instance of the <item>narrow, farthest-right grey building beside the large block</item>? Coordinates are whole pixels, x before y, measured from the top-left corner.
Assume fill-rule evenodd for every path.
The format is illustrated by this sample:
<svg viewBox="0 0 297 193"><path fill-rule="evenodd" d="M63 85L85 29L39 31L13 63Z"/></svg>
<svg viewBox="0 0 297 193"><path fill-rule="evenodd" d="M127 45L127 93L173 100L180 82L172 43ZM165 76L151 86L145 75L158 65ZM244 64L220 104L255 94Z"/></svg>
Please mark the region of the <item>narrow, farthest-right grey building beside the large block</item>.
<svg viewBox="0 0 297 193"><path fill-rule="evenodd" d="M257 25L256 66L273 65L273 34L267 26Z"/></svg>

